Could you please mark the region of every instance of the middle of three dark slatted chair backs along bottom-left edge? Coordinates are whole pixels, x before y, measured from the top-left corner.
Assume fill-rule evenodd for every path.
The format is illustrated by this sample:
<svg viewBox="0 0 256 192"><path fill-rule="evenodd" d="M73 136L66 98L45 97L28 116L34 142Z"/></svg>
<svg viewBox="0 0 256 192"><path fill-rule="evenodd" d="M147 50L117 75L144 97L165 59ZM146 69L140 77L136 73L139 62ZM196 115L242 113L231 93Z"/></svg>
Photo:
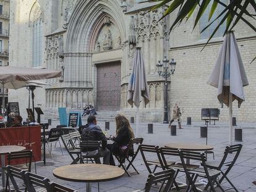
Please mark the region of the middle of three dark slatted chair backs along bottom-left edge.
<svg viewBox="0 0 256 192"><path fill-rule="evenodd" d="M25 172L25 180L26 188L29 192L36 192L35 186L40 186L41 188L45 188L46 191L50 191L49 178L31 172Z"/></svg>

